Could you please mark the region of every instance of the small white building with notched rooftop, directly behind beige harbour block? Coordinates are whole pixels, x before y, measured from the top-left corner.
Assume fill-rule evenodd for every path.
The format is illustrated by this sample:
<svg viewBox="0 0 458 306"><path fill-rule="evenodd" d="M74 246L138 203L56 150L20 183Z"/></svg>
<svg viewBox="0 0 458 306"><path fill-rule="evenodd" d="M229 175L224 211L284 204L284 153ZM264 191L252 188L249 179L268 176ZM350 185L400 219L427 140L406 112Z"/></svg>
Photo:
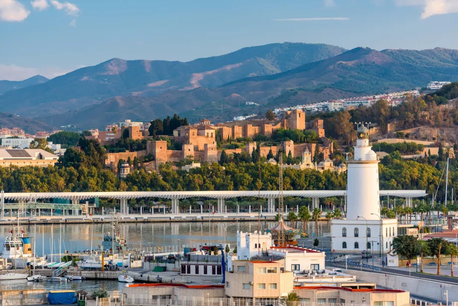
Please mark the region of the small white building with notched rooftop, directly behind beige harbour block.
<svg viewBox="0 0 458 306"><path fill-rule="evenodd" d="M272 246L272 234L237 232L237 260L249 260L251 257L262 255Z"/></svg>

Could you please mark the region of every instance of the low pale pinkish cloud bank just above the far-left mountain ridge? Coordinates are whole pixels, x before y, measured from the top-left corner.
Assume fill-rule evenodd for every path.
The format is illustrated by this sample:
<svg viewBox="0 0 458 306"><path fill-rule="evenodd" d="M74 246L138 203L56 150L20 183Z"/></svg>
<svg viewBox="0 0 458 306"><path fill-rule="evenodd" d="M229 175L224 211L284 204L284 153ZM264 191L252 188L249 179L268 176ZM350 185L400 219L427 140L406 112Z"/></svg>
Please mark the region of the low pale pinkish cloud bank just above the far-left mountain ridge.
<svg viewBox="0 0 458 306"><path fill-rule="evenodd" d="M20 67L16 65L0 64L0 80L22 81L34 75L41 74L48 79L66 74L73 69L62 69L60 67Z"/></svg>

